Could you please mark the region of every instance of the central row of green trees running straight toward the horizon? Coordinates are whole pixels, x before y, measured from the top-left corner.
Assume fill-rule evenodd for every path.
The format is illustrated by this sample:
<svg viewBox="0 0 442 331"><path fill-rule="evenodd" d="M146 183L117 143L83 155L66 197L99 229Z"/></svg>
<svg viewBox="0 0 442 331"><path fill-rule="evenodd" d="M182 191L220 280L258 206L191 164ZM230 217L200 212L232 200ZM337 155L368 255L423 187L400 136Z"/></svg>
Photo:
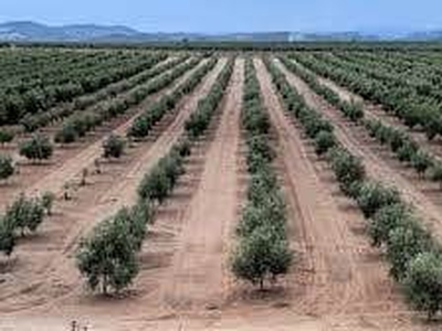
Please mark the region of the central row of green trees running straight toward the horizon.
<svg viewBox="0 0 442 331"><path fill-rule="evenodd" d="M240 278L263 289L288 271L293 253L288 247L286 206L272 169L275 157L267 143L270 120L251 58L245 63L242 126L246 131L250 174L248 202L236 227L239 243L231 255L231 269Z"/></svg>

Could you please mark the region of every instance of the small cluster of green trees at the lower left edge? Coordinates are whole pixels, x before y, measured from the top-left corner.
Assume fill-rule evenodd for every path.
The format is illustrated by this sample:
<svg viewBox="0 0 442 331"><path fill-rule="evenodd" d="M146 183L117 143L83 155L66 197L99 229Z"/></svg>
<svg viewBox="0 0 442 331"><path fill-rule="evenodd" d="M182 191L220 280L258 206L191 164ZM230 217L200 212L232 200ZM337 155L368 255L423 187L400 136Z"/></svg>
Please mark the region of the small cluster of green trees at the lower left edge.
<svg viewBox="0 0 442 331"><path fill-rule="evenodd" d="M46 192L39 197L21 194L0 215L0 252L10 256L17 244L17 236L36 232L46 215L51 215L55 196Z"/></svg>

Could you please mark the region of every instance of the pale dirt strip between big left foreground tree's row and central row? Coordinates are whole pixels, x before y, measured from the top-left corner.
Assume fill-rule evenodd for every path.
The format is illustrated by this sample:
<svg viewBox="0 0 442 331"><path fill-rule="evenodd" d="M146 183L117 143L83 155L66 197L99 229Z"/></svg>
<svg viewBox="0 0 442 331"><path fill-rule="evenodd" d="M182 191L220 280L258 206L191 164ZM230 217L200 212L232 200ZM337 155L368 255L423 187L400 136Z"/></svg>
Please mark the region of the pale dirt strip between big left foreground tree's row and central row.
<svg viewBox="0 0 442 331"><path fill-rule="evenodd" d="M229 291L229 238L236 220L243 60L236 60L214 140L206 153L197 192L181 214L171 265L160 284L160 300L177 309L218 308Z"/></svg>

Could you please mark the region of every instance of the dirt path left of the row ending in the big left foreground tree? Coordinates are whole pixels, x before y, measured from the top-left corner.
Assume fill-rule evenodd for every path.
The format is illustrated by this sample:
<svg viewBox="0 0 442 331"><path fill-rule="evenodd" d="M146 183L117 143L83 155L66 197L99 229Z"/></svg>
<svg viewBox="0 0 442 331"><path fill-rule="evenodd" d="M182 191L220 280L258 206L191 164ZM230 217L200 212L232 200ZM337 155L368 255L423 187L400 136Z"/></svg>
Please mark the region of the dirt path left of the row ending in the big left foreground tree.
<svg viewBox="0 0 442 331"><path fill-rule="evenodd" d="M15 264L1 275L6 280L0 286L2 313L15 312L19 319L32 311L36 316L83 316L96 308L97 313L112 316L99 298L88 297L83 288L73 260L78 238L119 207L135 203L141 178L180 137L186 119L210 90L225 61L220 60L196 92L185 97L171 125L154 142L136 148L126 162L108 164L74 201L57 206L54 220L44 223L36 237L19 245ZM115 307L114 312L120 310Z"/></svg>

